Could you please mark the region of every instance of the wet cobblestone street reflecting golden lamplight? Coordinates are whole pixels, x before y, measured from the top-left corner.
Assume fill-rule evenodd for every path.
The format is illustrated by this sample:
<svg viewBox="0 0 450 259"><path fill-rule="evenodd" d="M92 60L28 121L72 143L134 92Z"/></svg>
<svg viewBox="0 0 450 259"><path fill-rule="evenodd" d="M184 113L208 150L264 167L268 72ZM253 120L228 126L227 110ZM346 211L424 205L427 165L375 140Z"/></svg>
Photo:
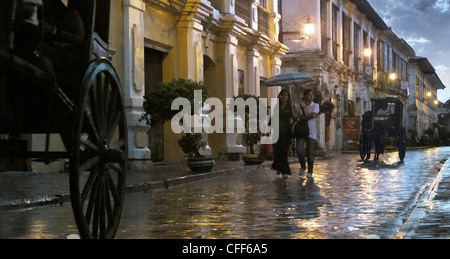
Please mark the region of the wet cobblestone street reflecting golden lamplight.
<svg viewBox="0 0 450 259"><path fill-rule="evenodd" d="M298 175L284 181L258 168L150 189L126 196L117 238L393 238L438 177L434 165L449 156L450 147L408 151L404 163L396 152L377 162L335 153L315 163L313 181ZM448 165L439 188L450 189ZM297 172L299 165L291 168ZM436 221L448 218L450 193L436 194L407 238L428 237ZM0 238L76 233L69 203L0 212Z"/></svg>

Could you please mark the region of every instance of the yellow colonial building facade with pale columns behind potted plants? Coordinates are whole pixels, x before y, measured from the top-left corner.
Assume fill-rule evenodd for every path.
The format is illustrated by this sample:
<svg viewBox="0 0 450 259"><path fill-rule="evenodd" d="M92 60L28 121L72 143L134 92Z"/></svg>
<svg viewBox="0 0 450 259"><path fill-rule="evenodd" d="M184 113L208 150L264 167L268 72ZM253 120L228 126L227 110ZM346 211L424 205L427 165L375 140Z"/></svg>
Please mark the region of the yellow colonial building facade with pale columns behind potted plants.
<svg viewBox="0 0 450 259"><path fill-rule="evenodd" d="M280 18L277 0L112 0L111 50L123 80L135 167L184 156L170 123L149 129L139 121L145 93L159 82L203 81L209 96L223 103L239 93L276 96L279 89L262 83L280 73L287 51L278 41ZM203 152L215 158L246 151L236 134L205 140Z"/></svg>

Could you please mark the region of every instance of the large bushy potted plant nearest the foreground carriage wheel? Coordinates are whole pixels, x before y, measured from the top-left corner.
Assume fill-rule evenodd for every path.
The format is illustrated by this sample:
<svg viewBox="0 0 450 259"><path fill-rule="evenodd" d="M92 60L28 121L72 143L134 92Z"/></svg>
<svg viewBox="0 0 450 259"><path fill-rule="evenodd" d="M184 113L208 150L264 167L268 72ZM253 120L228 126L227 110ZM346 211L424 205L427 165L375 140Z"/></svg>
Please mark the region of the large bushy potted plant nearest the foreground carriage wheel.
<svg viewBox="0 0 450 259"><path fill-rule="evenodd" d="M190 102L191 114L194 111L194 91L202 91L202 103L206 100L208 94L202 82L195 82L190 79L174 79L169 83L159 83L156 89L150 91L144 96L144 113L141 121L147 125L154 126L171 120L179 111L172 110L172 102L178 98L186 98ZM202 156L200 150L206 147L201 133L185 133L179 140L178 145L188 156L188 167L193 172L211 171L214 166L212 156Z"/></svg>

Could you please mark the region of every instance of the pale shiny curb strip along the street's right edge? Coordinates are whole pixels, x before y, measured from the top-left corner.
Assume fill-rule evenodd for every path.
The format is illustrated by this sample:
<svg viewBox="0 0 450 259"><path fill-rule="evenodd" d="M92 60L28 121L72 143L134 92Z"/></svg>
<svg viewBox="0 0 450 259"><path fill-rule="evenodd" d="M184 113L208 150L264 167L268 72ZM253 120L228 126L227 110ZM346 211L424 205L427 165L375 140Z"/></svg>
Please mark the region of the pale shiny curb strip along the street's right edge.
<svg viewBox="0 0 450 259"><path fill-rule="evenodd" d="M436 171L437 173L436 177L434 178L431 184L425 187L425 190L419 197L419 200L417 201L413 211L410 213L406 221L403 222L403 225L394 235L393 239L408 239L409 234L412 233L414 229L417 227L417 224L426 209L425 203L431 199L433 192L436 190L436 188L439 185L439 182L442 180L441 169L447 162L450 163L448 158L445 158L436 165L434 165L432 170Z"/></svg>

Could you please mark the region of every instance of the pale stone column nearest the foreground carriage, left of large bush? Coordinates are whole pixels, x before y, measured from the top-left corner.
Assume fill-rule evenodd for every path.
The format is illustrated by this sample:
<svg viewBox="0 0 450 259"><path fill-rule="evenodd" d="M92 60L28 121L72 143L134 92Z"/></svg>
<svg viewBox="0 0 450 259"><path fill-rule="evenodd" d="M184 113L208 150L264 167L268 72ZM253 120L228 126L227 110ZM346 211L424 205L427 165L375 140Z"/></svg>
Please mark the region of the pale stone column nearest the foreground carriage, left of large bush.
<svg viewBox="0 0 450 259"><path fill-rule="evenodd" d="M139 122L145 94L144 74L144 10L142 0L123 0L123 37L125 113L128 123L128 158L131 168L150 166L147 145L148 126Z"/></svg>

